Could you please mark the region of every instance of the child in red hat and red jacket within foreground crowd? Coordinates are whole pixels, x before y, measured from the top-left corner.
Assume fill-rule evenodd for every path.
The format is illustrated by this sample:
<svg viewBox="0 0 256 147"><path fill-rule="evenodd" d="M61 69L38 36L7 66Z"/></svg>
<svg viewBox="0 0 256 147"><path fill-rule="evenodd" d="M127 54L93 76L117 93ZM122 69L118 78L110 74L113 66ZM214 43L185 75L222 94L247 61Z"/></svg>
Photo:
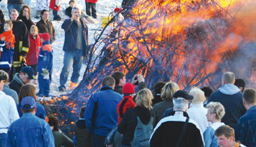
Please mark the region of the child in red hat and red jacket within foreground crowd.
<svg viewBox="0 0 256 147"><path fill-rule="evenodd" d="M136 104L133 102L133 96L135 95L134 85L132 83L126 83L123 87L124 97L121 102L117 105L117 114L118 114L118 124L122 120L125 112L128 109L136 107Z"/></svg>

